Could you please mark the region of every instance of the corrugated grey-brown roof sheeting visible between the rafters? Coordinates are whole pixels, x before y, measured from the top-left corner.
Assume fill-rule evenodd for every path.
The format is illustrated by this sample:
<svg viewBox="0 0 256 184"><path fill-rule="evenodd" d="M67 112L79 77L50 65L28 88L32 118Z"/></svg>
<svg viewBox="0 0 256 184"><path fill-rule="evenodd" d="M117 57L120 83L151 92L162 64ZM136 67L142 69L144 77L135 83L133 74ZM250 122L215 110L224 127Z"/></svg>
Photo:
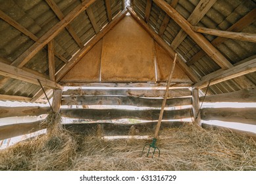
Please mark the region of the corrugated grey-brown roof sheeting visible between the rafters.
<svg viewBox="0 0 256 184"><path fill-rule="evenodd" d="M168 4L176 0L166 0ZM49 3L50 2L50 3ZM80 0L0 0L0 58L1 62L11 64L19 58L25 51L27 51L36 41L45 35L51 28L63 19L60 14L56 13L51 7L51 2L57 5L57 9L61 11L62 16L65 17L78 5ZM199 0L179 0L176 1L175 9L184 18L189 20L195 7L199 4ZM122 0L111 0L111 12L114 18L118 12L122 11ZM147 0L132 1L132 9L143 20L145 18L145 10L147 7ZM110 21L107 14L107 6L105 1L97 0L90 5L91 12L95 18L95 22L101 30ZM247 16L251 11L255 11L256 2L254 0L217 0L206 14L194 24L194 26L201 26L205 28L213 28L217 30L228 30L230 27L238 24L242 18ZM30 36L25 35L20 30L11 26L11 24L4 20L3 14L11 18L14 22L20 24L23 28L31 33ZM255 12L254 12L255 14ZM165 12L160 9L154 2L152 2L151 11L149 14L148 24L157 34L161 30L163 20L165 19ZM54 54L55 54L55 72L59 72L61 68L68 62L76 53L96 35L96 30L93 28L93 23L87 11L80 13L70 24L69 28L64 28L54 39ZM95 25L94 25L95 26ZM175 37L180 32L181 28L170 18L168 24L161 37L168 45L172 45ZM234 30L234 32L245 32L256 34L255 19L250 24ZM212 44L220 51L220 53L227 58L227 60L234 66L241 64L253 58L256 55L256 43L249 41L239 41L236 39L220 39L218 43L214 42L216 36L203 34L205 38L212 42ZM204 52L192 37L189 35L174 49L183 58L184 62L195 72L198 78L203 78L207 74L211 74L220 70L220 66ZM201 55L199 55L201 54ZM197 57L199 55L199 57ZM49 78L49 64L47 45L40 49L34 57L32 57L22 69L33 72L43 78ZM243 78L244 79L244 78ZM249 83L256 85L256 72L246 74L245 79ZM211 85L209 88L212 94L228 93L238 91L245 88L243 82L238 80L222 81L216 85ZM33 98L40 90L39 85L28 83L13 78L6 78L0 76L0 95L15 95L21 97ZM205 90L205 89L203 89Z"/></svg>

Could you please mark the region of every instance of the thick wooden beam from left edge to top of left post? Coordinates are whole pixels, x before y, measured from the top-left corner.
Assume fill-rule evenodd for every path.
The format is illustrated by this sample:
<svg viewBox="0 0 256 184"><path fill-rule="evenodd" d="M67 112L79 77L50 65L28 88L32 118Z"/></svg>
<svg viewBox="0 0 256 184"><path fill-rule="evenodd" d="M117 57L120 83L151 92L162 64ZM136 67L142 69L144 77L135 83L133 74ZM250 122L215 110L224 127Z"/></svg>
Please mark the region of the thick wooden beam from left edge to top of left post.
<svg viewBox="0 0 256 184"><path fill-rule="evenodd" d="M2 62L0 62L0 75L8 78L14 78L16 80L34 83L36 85L39 85L38 80L40 80L41 84L44 87L49 87L53 89L63 88L61 85L59 85L59 83L56 83L55 81L48 80L47 78L42 78L41 76L26 72L20 68L10 66L9 64L4 64Z"/></svg>

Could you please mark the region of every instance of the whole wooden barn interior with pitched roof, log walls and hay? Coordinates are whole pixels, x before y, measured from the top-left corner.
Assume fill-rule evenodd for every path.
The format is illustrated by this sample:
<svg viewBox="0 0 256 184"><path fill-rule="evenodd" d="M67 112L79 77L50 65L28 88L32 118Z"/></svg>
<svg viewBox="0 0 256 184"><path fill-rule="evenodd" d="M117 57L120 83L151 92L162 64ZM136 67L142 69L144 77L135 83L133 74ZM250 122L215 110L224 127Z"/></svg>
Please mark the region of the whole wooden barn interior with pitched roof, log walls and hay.
<svg viewBox="0 0 256 184"><path fill-rule="evenodd" d="M256 170L255 47L255 0L0 0L0 122L43 117L8 120L0 145L51 135L4 150L0 170ZM156 167L140 153L161 108Z"/></svg>

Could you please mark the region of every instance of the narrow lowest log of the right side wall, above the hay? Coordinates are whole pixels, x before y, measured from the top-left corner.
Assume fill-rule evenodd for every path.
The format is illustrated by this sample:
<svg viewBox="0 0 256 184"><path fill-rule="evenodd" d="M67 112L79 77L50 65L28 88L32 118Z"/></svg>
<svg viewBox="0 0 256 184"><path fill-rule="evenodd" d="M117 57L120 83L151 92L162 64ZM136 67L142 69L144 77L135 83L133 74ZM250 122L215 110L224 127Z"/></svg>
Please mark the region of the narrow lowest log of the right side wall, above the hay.
<svg viewBox="0 0 256 184"><path fill-rule="evenodd" d="M216 129L216 130L220 130L220 131L224 131L224 132L236 133L236 134L243 135L246 137L251 137L253 140L256 141L256 133L253 133L251 131L243 131L240 129L233 129L230 127L221 127L221 126L209 125L209 124L204 124L204 123L202 123L202 127L205 129Z"/></svg>

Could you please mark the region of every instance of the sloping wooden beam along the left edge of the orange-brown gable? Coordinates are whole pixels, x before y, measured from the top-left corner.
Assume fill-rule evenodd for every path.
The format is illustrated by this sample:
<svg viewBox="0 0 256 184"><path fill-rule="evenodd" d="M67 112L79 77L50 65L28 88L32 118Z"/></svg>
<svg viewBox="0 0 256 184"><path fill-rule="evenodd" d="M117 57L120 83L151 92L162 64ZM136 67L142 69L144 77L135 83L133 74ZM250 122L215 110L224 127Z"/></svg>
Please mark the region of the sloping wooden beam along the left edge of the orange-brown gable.
<svg viewBox="0 0 256 184"><path fill-rule="evenodd" d="M120 12L113 21L111 21L101 32L95 35L72 59L63 67L63 69L57 74L56 81L60 81L61 78L82 58L90 49L111 30L124 16L126 16L127 10Z"/></svg>

